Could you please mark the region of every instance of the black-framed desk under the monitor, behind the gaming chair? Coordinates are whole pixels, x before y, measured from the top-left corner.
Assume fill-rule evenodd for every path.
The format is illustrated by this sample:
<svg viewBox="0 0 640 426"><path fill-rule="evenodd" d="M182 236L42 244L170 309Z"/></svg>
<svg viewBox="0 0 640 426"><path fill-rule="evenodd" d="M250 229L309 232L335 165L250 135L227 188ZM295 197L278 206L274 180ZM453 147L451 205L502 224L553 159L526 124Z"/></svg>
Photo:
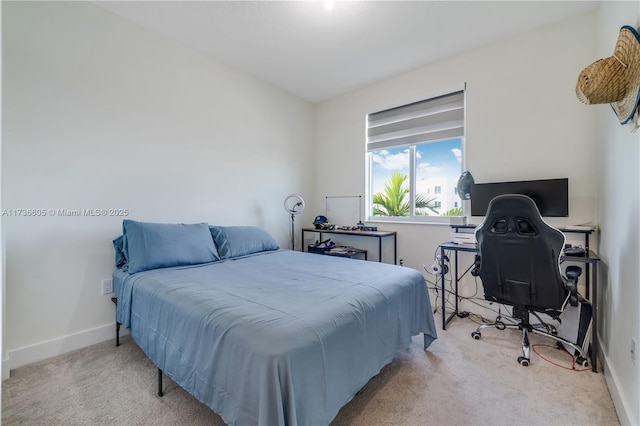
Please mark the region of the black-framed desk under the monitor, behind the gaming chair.
<svg viewBox="0 0 640 426"><path fill-rule="evenodd" d="M444 270L445 266L445 251L451 250L454 253L454 262L453 266L454 270L454 280L453 280L453 292L456 299L455 302L455 311L447 317L445 308L446 308L446 298L445 294L445 280L444 275L440 275L440 283L442 289L442 329L446 330L447 324L451 322L453 317L458 315L458 282L460 281L460 276L458 275L458 253L459 252L469 252L469 253L477 253L478 247L475 244L455 244L455 243L442 243L440 244L440 262L441 262L441 270ZM591 370L593 372L598 372L598 263L600 262L600 258L593 251L589 250L588 256L560 256L560 261L562 262L576 262L583 263L585 265L585 294L586 298L591 301L592 306L592 317L591 317ZM593 267L593 274L589 274L590 267ZM589 280L589 277L592 277ZM589 298L589 287L592 288L593 297Z"/></svg>

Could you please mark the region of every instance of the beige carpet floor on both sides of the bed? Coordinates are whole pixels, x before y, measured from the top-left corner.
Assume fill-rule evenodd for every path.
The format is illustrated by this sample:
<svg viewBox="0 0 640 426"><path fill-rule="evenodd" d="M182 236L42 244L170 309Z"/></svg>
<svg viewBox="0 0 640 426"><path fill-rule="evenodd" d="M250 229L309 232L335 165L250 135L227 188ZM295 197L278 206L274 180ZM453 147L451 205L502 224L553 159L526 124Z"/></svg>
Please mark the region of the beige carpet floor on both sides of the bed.
<svg viewBox="0 0 640 426"><path fill-rule="evenodd" d="M454 319L428 351L422 337L338 413L335 425L617 425L604 376L561 368L533 353L516 331L471 338L471 318ZM549 343L539 336L532 343ZM570 367L555 348L540 355ZM601 370L600 370L601 371ZM222 425L209 408L164 379L129 337L12 371L2 384L2 424Z"/></svg>

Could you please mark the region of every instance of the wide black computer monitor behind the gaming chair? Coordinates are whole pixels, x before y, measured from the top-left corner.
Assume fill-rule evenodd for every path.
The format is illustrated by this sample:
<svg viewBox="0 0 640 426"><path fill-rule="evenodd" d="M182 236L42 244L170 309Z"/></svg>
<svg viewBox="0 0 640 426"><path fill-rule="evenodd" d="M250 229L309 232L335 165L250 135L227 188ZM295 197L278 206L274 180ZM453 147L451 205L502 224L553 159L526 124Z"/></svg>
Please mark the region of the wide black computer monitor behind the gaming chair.
<svg viewBox="0 0 640 426"><path fill-rule="evenodd" d="M569 216L569 179L540 179L471 185L471 216L487 214L489 202L502 194L524 194L546 217Z"/></svg>

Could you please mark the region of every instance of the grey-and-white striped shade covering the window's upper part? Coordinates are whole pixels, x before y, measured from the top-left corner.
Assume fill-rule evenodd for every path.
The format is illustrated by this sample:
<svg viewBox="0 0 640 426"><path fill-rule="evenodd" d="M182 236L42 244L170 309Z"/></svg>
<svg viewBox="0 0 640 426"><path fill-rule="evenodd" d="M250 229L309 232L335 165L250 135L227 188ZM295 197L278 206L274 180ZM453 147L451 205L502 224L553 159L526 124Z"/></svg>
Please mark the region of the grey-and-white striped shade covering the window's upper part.
<svg viewBox="0 0 640 426"><path fill-rule="evenodd" d="M464 91L368 115L367 151L464 136Z"/></svg>

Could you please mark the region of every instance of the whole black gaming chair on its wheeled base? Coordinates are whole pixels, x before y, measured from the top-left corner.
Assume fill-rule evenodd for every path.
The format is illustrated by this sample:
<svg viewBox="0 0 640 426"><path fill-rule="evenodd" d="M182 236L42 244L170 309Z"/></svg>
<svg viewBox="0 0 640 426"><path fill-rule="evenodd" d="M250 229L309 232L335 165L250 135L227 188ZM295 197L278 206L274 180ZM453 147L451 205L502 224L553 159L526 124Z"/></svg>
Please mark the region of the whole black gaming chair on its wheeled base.
<svg viewBox="0 0 640 426"><path fill-rule="evenodd" d="M585 350L559 337L556 328L538 315L543 313L561 321L567 303L578 305L577 281L582 269L568 266L566 278L560 271L564 234L545 223L533 200L520 194L491 200L475 234L479 254L474 275L482 280L485 299L512 306L513 314L507 322L498 316L495 323L481 325L471 336L480 339L480 331L486 327L517 328L522 330L522 356L518 357L521 365L530 363L528 333L535 333L556 340L559 347L563 344L575 349L578 364L585 366ZM540 324L531 324L530 314Z"/></svg>

